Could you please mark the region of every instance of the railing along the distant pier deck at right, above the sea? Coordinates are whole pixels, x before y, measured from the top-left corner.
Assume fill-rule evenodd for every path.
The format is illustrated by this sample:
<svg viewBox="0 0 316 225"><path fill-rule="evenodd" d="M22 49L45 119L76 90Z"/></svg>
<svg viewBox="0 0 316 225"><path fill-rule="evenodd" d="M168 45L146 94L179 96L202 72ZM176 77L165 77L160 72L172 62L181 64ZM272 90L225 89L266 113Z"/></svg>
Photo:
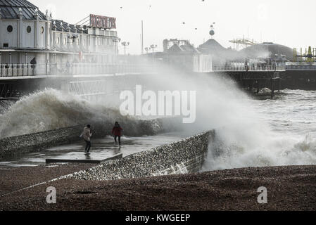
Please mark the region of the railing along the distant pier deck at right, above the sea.
<svg viewBox="0 0 316 225"><path fill-rule="evenodd" d="M232 66L213 66L213 71L284 71L285 68L275 65L265 66L247 66L247 65L232 65Z"/></svg>

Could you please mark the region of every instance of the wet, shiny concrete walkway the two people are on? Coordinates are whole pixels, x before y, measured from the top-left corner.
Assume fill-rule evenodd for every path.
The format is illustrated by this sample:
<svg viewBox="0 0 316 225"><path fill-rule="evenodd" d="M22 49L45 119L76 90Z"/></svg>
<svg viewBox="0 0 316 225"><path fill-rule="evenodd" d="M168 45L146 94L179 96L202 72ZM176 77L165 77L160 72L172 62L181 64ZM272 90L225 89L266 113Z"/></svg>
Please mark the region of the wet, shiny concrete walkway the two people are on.
<svg viewBox="0 0 316 225"><path fill-rule="evenodd" d="M37 153L27 153L12 160L0 162L0 169L14 167L35 167L46 165L46 159L66 159L66 160L104 160L115 155L122 154L123 157L144 150L162 146L166 143L179 141L186 137L181 133L161 134L158 136L142 136L139 138L122 137L122 146L115 146L114 140L110 136L104 139L92 139L90 155L84 155L84 141L72 143L55 148L49 148Z"/></svg>

